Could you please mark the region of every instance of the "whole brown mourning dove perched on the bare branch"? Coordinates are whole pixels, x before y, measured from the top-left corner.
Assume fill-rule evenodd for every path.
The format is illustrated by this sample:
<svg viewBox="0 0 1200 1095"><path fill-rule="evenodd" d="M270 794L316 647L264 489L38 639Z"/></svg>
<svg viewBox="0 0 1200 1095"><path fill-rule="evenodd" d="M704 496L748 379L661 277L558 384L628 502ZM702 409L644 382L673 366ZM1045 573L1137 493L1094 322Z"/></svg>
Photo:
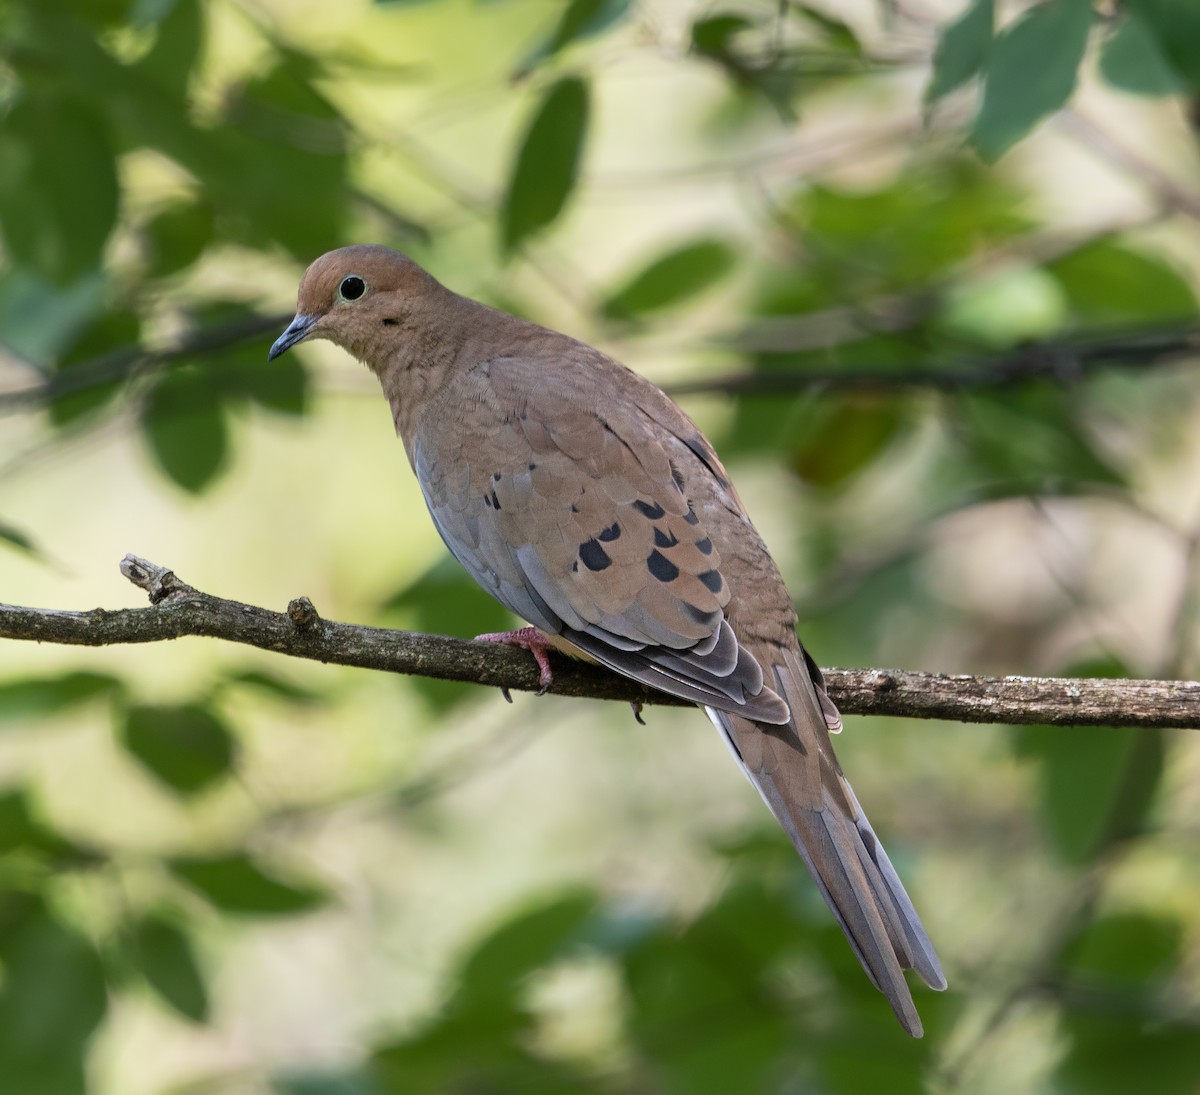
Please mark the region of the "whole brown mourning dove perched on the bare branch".
<svg viewBox="0 0 1200 1095"><path fill-rule="evenodd" d="M318 258L274 359L328 339L379 378L442 539L539 635L701 705L911 1035L946 980L842 776L796 612L713 447L654 384L446 289L406 256ZM494 638L494 636L493 636ZM532 641L530 641L532 640Z"/></svg>

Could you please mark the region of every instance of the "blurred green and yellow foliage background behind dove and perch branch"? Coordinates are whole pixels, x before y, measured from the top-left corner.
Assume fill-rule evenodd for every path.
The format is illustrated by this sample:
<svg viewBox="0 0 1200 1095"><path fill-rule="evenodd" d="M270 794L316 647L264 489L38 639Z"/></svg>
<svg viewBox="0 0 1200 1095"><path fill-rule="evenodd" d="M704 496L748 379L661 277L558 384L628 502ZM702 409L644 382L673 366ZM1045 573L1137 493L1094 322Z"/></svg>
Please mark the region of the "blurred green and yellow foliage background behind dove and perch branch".
<svg viewBox="0 0 1200 1095"><path fill-rule="evenodd" d="M1170 0L7 0L0 599L469 636L353 241L679 393L823 664L1194 676L1200 18ZM13 1095L1194 1093L1189 731L848 718L907 1040L697 712L188 639L0 664Z"/></svg>

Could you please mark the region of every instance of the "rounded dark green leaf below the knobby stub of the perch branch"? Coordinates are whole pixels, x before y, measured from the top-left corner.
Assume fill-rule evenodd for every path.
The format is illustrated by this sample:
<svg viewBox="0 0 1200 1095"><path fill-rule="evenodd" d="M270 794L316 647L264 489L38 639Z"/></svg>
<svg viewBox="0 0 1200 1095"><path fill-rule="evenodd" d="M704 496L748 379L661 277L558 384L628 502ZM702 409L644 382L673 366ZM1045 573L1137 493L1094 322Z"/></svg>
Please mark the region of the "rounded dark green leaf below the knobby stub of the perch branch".
<svg viewBox="0 0 1200 1095"><path fill-rule="evenodd" d="M119 732L133 756L182 795L194 795L233 771L233 735L205 707L130 707Z"/></svg>

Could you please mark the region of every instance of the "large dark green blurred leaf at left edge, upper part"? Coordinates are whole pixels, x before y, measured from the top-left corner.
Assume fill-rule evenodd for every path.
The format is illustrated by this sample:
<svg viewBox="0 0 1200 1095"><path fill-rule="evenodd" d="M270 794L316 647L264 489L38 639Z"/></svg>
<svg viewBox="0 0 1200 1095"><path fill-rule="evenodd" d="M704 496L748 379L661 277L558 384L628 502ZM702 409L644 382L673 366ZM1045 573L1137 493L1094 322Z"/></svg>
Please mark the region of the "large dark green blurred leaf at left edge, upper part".
<svg viewBox="0 0 1200 1095"><path fill-rule="evenodd" d="M116 202L104 115L70 95L18 100L0 128L0 232L10 261L70 285L100 265Z"/></svg>

